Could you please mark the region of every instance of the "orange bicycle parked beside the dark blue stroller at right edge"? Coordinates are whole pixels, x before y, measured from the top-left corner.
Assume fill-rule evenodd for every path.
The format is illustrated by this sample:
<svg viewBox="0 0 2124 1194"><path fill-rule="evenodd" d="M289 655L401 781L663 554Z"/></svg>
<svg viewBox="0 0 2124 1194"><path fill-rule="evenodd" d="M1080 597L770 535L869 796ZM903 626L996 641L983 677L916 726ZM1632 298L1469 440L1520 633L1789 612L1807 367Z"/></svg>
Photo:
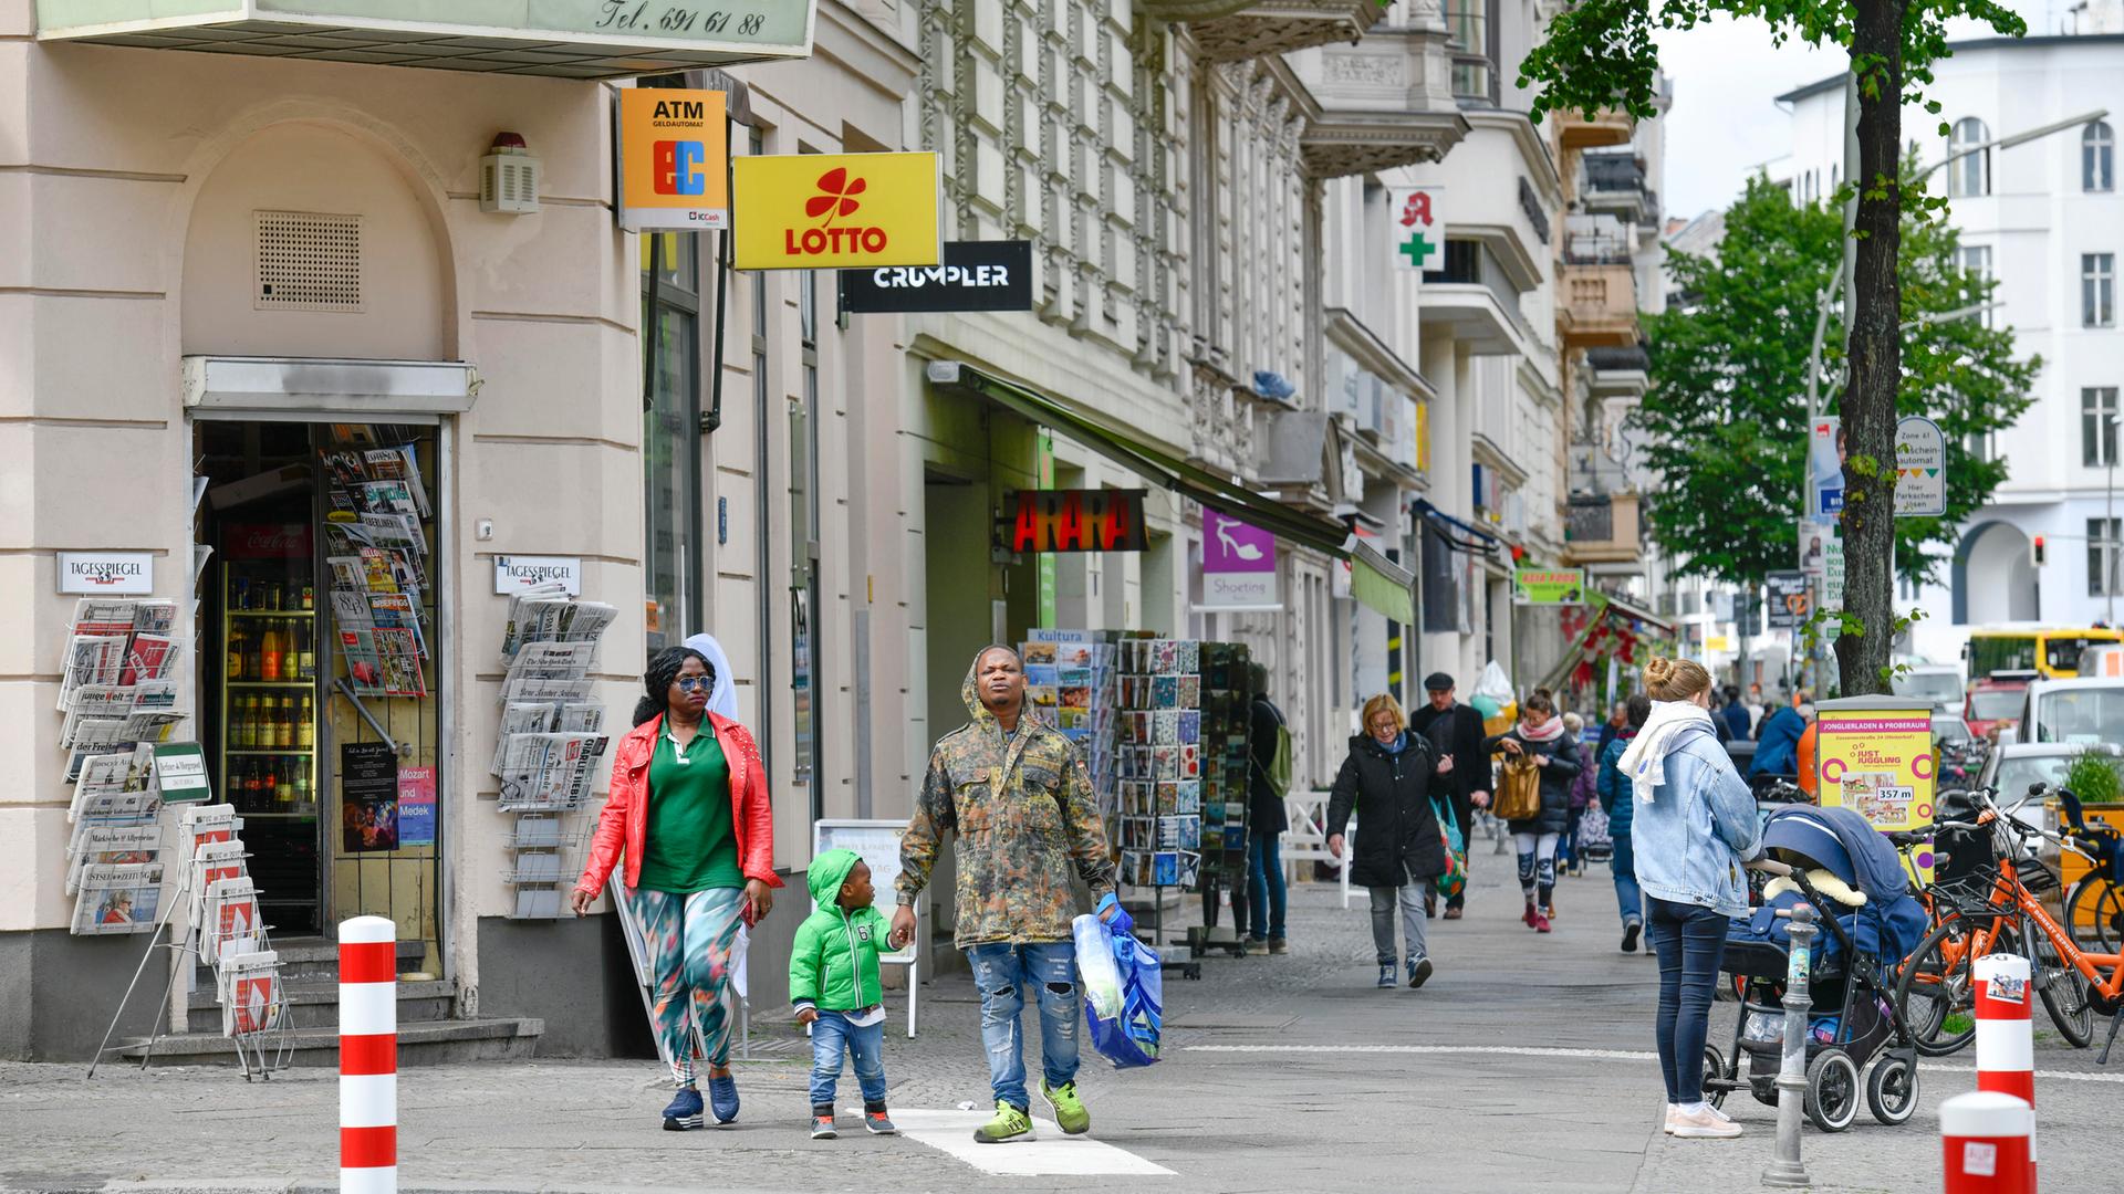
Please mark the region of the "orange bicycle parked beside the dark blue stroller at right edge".
<svg viewBox="0 0 2124 1194"><path fill-rule="evenodd" d="M2031 839L2043 837L2086 854L2073 841L2011 816L2041 792L2043 786L2037 784L2020 801L2001 807L1992 799L1997 790L1973 790L1969 792L1973 816L1933 824L1939 839L1958 837L1950 856L1960 865L1954 867L1954 877L1929 888L1933 916L1939 922L1903 960L1895 986L1897 1009L1909 1024L1920 1054L1952 1054L1975 1037L1973 962L2001 952L2028 958L2028 973L2043 1009L2058 1026L2058 1035L2075 1047L2092 1043L2094 1016L2107 1016L2109 1037L2101 1054L2107 1064L2118 1028L2124 1028L2124 954L2082 952L2037 899L2039 892L2054 890L2058 877L2028 854ZM1969 867L1967 854L1986 848L1988 858Z"/></svg>

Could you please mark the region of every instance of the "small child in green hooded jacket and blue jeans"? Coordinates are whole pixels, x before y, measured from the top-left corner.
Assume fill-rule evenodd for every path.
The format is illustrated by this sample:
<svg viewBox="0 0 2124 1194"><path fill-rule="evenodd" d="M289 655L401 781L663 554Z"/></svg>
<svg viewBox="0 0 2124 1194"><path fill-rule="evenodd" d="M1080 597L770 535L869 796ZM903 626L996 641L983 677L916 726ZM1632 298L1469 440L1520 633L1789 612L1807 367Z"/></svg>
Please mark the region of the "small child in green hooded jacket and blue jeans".
<svg viewBox="0 0 2124 1194"><path fill-rule="evenodd" d="M854 850L826 850L805 869L818 909L796 926L790 1003L811 1026L811 1139L830 1141L841 1058L856 1056L862 1126L873 1137L898 1128L886 1115L886 988L877 952L890 924L871 901L871 867Z"/></svg>

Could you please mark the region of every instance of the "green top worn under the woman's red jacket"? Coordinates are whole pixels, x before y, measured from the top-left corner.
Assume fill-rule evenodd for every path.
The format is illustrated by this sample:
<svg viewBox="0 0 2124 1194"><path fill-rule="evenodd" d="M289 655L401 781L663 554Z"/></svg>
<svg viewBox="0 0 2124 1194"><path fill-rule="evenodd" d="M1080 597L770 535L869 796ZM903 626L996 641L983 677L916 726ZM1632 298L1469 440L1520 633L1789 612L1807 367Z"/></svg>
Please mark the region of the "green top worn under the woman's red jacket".
<svg viewBox="0 0 2124 1194"><path fill-rule="evenodd" d="M669 729L656 733L637 886L671 894L746 886L737 867L737 826L731 822L731 765L707 722L684 754Z"/></svg>

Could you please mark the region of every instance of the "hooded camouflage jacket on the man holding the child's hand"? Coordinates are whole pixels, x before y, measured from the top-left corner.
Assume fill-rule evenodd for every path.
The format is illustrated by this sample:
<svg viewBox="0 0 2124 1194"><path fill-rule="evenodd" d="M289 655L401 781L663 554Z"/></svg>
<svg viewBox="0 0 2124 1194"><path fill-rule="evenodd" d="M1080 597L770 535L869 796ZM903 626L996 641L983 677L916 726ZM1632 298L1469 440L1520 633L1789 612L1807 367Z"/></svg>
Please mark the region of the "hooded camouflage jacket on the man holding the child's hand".
<svg viewBox="0 0 2124 1194"><path fill-rule="evenodd" d="M915 816L901 839L898 903L911 905L928 884L949 829L960 950L1068 941L1077 914L1070 871L1094 892L1113 888L1092 778L1077 746L1030 714L1005 741L1003 724L975 695L971 667L958 693L973 724L947 733L930 752Z"/></svg>

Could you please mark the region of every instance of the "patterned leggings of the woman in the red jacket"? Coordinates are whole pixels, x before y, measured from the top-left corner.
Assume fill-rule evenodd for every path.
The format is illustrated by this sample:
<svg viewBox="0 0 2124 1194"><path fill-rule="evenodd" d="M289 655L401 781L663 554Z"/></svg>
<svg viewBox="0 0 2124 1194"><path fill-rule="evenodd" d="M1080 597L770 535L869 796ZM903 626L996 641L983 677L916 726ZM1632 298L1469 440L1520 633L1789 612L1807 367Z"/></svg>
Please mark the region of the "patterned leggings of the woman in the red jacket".
<svg viewBox="0 0 2124 1194"><path fill-rule="evenodd" d="M714 888L692 894L633 890L629 892L641 933L648 939L650 971L656 975L654 1020L656 1043L671 1060L671 1077L692 1086L695 1041L707 1062L731 1060L731 948L737 943L737 909L741 888Z"/></svg>

